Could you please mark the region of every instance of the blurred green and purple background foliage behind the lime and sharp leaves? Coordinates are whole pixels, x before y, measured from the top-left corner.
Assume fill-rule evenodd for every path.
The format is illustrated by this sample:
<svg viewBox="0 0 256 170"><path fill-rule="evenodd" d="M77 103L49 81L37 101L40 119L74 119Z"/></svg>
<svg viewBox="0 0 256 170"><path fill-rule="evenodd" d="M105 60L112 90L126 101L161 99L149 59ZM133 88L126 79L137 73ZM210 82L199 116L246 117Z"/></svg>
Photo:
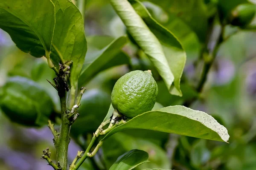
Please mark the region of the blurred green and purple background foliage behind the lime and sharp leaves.
<svg viewBox="0 0 256 170"><path fill-rule="evenodd" d="M256 9L253 0L143 0L152 17L171 30L186 51L181 79L183 96L179 97L169 94L156 69L133 40L126 42L125 26L109 2L87 0L84 24L88 52L79 79L80 87L85 86L87 90L79 108L81 116L71 128L70 161L77 150L86 147L87 140L108 112L116 80L132 70L150 69L159 87L157 102L165 107L183 105L197 98L190 107L209 113L227 127L230 143L150 130L126 130L106 140L81 170L107 170L120 155L132 149L149 153L150 162L137 169L255 170L256 20L246 26L230 24L232 17L236 17L232 14L237 6L244 3ZM220 23L224 25L223 42L204 89L198 94L194 87L201 74L202 59L205 51L215 46ZM97 64L93 65L95 60ZM46 81L55 77L54 71L48 68L44 58L34 58L18 50L9 35L0 30L0 86L14 76L32 79L47 91L54 104L52 116L58 124L57 91ZM23 127L0 114L0 136L1 170L51 170L40 159L46 147L50 147L54 159L48 127Z"/></svg>

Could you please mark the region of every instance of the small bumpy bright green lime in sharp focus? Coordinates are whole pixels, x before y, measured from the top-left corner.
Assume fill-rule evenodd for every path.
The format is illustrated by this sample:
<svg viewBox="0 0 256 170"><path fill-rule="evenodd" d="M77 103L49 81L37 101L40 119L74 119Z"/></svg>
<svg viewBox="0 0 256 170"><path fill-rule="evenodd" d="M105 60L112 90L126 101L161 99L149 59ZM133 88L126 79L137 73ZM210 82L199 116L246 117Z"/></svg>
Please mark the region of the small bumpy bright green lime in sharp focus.
<svg viewBox="0 0 256 170"><path fill-rule="evenodd" d="M131 71L114 85L111 102L113 108L127 118L151 111L158 94L157 83L151 71Z"/></svg>

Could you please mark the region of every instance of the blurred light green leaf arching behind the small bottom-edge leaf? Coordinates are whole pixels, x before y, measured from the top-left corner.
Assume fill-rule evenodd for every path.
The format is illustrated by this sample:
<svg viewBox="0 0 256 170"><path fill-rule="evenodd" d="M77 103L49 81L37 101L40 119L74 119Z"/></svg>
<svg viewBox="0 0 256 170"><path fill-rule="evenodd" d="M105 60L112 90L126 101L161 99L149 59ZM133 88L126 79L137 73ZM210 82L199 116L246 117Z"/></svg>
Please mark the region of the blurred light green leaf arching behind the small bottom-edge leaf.
<svg viewBox="0 0 256 170"><path fill-rule="evenodd" d="M103 143L104 158L107 168L113 164L120 154L132 149L144 150L148 153L150 162L140 165L138 169L144 168L168 168L170 161L166 157L165 151L143 137L134 137L124 133L118 133L111 136ZM137 169L137 168L136 168Z"/></svg>

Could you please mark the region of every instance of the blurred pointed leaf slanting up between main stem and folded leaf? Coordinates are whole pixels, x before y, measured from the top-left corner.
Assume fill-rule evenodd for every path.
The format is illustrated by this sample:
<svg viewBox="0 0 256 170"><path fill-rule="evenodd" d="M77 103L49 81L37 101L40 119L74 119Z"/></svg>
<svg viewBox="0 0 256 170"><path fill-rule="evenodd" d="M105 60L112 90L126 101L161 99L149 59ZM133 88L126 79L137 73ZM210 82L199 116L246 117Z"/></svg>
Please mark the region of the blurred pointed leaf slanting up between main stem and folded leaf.
<svg viewBox="0 0 256 170"><path fill-rule="evenodd" d="M109 38L103 38L104 39L101 40L101 44L96 43L95 46L97 45L97 47L100 48L103 46L102 42L104 40L106 42L109 40ZM93 51L94 56L90 56L88 59L85 59L84 66L79 77L79 87L89 82L100 71L116 65L129 63L128 57L121 51L121 48L126 44L126 42L127 37L122 36L110 42L110 44L102 50ZM93 43L95 43L95 40L93 40Z"/></svg>

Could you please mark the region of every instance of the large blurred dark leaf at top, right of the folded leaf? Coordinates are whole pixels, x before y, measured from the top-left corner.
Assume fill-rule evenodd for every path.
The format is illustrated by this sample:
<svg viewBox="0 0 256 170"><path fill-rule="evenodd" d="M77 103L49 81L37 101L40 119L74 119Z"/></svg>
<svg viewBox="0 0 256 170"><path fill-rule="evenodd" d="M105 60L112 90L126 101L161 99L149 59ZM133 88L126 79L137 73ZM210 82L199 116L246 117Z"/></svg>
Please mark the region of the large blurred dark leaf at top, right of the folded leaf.
<svg viewBox="0 0 256 170"><path fill-rule="evenodd" d="M144 1L144 0L143 0ZM207 6L204 0L145 0L162 7L171 17L179 17L204 42L207 34ZM169 20L171 22L172 20ZM182 30L180 30L182 31Z"/></svg>

